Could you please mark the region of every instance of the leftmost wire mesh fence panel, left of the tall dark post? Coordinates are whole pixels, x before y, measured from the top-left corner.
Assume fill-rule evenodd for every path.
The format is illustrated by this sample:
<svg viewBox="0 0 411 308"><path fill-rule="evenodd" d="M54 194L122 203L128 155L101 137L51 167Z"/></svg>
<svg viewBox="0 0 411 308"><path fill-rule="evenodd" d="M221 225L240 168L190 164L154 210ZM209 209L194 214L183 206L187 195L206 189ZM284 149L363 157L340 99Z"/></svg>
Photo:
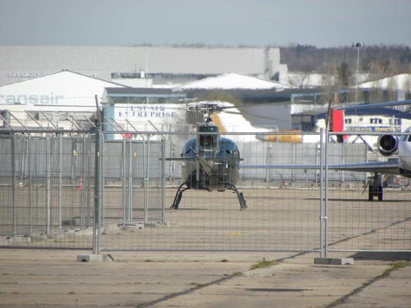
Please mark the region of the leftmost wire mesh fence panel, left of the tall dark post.
<svg viewBox="0 0 411 308"><path fill-rule="evenodd" d="M3 244L11 239L15 246L91 247L94 172L84 166L93 157L84 152L82 140L0 137Z"/></svg>

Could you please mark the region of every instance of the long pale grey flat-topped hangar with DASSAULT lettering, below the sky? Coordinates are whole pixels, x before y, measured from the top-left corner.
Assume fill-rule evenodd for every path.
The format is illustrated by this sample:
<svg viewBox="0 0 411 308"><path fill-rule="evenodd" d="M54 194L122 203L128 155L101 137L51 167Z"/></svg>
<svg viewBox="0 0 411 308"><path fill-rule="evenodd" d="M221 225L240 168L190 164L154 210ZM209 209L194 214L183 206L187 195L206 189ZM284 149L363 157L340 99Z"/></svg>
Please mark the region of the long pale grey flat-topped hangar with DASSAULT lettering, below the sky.
<svg viewBox="0 0 411 308"><path fill-rule="evenodd" d="M271 79L287 71L279 48L0 45L0 63L0 85L60 70L111 81L148 76L154 85L229 72Z"/></svg>

